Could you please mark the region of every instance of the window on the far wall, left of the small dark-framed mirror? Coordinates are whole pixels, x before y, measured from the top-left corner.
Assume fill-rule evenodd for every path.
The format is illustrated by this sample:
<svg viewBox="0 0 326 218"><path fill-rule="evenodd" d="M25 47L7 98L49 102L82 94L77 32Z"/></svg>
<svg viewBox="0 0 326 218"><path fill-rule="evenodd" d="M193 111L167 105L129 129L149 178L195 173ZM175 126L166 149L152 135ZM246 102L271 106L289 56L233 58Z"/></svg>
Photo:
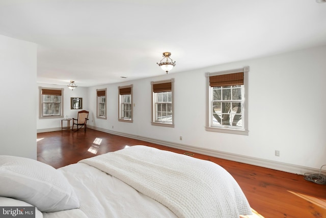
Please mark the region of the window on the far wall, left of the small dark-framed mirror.
<svg viewBox="0 0 326 218"><path fill-rule="evenodd" d="M40 118L63 117L63 89L42 88L40 90Z"/></svg>

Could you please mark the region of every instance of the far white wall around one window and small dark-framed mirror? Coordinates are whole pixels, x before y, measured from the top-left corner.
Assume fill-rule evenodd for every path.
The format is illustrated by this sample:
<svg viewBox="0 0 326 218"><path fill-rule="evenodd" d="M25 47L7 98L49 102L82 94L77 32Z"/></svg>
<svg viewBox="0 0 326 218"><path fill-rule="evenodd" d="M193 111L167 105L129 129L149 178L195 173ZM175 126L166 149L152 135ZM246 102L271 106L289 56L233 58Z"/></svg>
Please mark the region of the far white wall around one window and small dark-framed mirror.
<svg viewBox="0 0 326 218"><path fill-rule="evenodd" d="M69 82L67 82L67 85ZM68 86L63 85L54 85L54 84L44 84L37 83L36 88L34 89L34 96L37 101L36 117L37 117L37 132L48 132L48 131L57 131L61 130L61 119L62 118L39 118L39 87L44 88L64 88L63 91L63 111L64 116L69 118L77 118L78 111L89 110L89 100L88 100L88 88L78 86L74 90L68 88ZM70 98L83 98L83 109L70 109ZM67 122L63 123L64 127L67 126ZM72 120L70 121L70 127L72 127Z"/></svg>

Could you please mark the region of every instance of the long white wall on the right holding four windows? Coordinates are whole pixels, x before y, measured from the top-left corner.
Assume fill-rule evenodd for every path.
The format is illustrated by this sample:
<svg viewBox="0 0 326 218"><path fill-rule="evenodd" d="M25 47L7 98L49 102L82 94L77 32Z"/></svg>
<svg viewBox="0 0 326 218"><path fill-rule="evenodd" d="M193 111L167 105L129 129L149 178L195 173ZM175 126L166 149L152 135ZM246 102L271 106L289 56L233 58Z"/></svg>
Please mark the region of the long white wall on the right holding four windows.
<svg viewBox="0 0 326 218"><path fill-rule="evenodd" d="M89 88L90 125L273 162L326 164L326 46ZM249 136L205 131L205 72L250 66ZM177 66L176 66L177 67ZM175 128L151 125L151 81L175 78ZM133 84L133 123L118 122L118 86ZM96 88L107 88L107 119L96 118ZM95 114L95 115L94 115ZM112 128L114 126L114 128ZM179 136L183 140L179 140ZM275 150L280 156L275 156Z"/></svg>

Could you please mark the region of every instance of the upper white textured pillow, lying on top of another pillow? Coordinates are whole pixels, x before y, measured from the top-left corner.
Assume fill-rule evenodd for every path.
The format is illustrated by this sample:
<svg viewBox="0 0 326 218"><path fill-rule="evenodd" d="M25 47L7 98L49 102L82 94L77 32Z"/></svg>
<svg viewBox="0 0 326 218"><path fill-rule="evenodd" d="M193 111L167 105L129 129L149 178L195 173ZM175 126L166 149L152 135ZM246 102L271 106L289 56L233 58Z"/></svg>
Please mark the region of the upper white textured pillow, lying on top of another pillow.
<svg viewBox="0 0 326 218"><path fill-rule="evenodd" d="M0 196L18 199L42 212L79 207L79 200L60 171L23 157L0 156Z"/></svg>

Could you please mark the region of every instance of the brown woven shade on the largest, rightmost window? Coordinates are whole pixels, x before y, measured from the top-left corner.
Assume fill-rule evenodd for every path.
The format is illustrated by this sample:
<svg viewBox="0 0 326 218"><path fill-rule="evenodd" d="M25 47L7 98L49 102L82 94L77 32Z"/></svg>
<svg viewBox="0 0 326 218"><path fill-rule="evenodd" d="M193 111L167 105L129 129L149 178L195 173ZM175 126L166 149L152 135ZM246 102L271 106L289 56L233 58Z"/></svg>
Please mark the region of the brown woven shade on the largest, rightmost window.
<svg viewBox="0 0 326 218"><path fill-rule="evenodd" d="M243 72L224 74L209 77L209 86L235 86L243 85Z"/></svg>

